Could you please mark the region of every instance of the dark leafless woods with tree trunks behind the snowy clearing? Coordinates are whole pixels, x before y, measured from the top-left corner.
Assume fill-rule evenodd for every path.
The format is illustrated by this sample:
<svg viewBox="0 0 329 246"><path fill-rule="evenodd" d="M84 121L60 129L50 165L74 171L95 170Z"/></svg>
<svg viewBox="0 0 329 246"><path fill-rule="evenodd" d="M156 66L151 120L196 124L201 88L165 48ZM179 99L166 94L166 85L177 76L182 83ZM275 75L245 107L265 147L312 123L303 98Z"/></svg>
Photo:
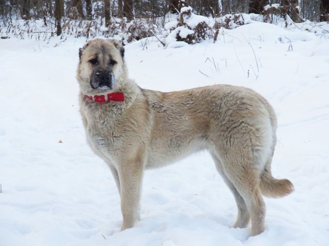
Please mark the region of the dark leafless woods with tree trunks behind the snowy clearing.
<svg viewBox="0 0 329 246"><path fill-rule="evenodd" d="M0 18L4 24L43 20L44 26L55 26L55 33L60 35L67 20L97 22L112 29L113 23L120 22L125 28L129 22L140 19L163 26L167 13L179 13L184 6L191 6L198 15L219 17L233 13L266 14L266 5L289 15L294 22L329 21L329 0L0 0Z"/></svg>

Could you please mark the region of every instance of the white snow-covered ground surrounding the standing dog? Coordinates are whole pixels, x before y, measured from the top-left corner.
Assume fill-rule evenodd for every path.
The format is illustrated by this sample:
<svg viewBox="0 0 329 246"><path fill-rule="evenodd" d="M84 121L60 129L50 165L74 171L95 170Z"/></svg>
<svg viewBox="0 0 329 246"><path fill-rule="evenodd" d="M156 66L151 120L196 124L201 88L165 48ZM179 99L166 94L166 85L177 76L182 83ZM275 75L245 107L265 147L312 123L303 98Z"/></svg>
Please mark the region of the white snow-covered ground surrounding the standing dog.
<svg viewBox="0 0 329 246"><path fill-rule="evenodd" d="M86 144L78 112L84 40L0 40L0 246L328 245L328 39L252 23L226 30L215 44L126 46L130 77L141 87L232 84L272 103L273 175L296 191L265 198L266 231L255 237L250 226L231 228L234 199L205 152L147 171L141 221L120 232L114 180Z"/></svg>

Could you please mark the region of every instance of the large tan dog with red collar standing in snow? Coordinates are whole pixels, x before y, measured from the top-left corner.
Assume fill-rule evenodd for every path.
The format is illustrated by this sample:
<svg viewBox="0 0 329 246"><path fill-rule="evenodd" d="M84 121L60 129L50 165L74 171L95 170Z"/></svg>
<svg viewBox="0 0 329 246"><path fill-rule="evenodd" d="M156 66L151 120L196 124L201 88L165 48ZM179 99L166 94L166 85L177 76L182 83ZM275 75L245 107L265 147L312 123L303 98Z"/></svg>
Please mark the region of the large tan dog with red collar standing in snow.
<svg viewBox="0 0 329 246"><path fill-rule="evenodd" d="M262 194L293 191L274 179L271 161L277 120L271 105L251 89L217 85L167 92L141 89L127 76L124 48L95 39L79 50L77 81L87 140L110 167L121 196L122 230L134 226L144 169L208 150L234 195L234 227L264 231Z"/></svg>

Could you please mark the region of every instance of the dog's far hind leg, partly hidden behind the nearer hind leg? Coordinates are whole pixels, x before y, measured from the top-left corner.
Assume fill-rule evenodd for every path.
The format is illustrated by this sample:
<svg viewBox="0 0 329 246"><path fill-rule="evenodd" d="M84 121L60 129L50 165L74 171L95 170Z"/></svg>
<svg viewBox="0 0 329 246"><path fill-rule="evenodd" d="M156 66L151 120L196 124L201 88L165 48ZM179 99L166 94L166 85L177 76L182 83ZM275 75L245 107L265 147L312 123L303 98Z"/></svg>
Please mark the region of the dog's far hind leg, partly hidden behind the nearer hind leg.
<svg viewBox="0 0 329 246"><path fill-rule="evenodd" d="M222 176L224 182L228 185L228 188L232 192L236 205L238 207L238 216L236 219L236 222L234 224L234 228L245 228L248 226L249 221L250 221L250 215L248 212L248 208L246 205L246 202L243 200L241 197L240 193L236 190L234 187L233 183L228 179L227 175L225 174L222 163L219 160L219 158L216 156L216 154L211 153L211 156L213 160L215 161L216 169L218 173Z"/></svg>

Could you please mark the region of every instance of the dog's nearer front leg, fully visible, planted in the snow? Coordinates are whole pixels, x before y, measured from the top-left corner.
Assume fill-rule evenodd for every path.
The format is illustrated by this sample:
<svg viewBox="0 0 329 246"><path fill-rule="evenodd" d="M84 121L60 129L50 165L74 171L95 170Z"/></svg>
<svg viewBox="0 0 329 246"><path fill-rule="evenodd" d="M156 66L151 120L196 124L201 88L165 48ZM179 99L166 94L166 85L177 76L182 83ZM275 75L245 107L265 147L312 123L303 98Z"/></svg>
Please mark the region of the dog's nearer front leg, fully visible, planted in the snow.
<svg viewBox="0 0 329 246"><path fill-rule="evenodd" d="M143 166L143 161L141 158L137 157L124 161L118 168L121 212L123 216L121 230L133 227L137 221L144 169Z"/></svg>

